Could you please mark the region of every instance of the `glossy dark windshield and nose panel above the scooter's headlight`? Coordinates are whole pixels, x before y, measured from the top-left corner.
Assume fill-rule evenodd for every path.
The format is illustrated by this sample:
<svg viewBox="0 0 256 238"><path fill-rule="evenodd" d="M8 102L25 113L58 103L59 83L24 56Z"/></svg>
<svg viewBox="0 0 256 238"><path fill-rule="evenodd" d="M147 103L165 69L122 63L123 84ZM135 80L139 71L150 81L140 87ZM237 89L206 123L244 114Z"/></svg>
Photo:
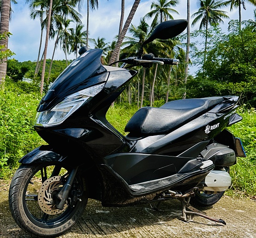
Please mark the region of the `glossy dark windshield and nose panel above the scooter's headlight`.
<svg viewBox="0 0 256 238"><path fill-rule="evenodd" d="M102 52L102 49L90 49L78 56L54 81L45 97L42 98L37 111L49 110L64 97L106 81L108 74L102 74L107 70L100 63ZM91 78L94 79L89 80Z"/></svg>

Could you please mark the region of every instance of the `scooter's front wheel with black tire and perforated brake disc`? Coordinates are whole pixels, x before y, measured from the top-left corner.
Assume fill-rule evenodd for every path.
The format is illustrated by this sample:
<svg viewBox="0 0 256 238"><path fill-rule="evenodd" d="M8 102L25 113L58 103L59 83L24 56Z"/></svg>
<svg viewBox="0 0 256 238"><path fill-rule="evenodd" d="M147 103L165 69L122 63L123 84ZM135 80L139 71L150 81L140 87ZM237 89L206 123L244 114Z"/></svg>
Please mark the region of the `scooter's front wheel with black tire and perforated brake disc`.
<svg viewBox="0 0 256 238"><path fill-rule="evenodd" d="M17 169L10 185L9 206L14 220L26 233L35 237L56 237L71 228L82 215L88 196L79 173L71 189L78 195L75 202L65 204L63 210L54 205L53 194L61 190L65 183L62 180L69 171L60 162L21 165ZM69 196L72 198L71 192Z"/></svg>

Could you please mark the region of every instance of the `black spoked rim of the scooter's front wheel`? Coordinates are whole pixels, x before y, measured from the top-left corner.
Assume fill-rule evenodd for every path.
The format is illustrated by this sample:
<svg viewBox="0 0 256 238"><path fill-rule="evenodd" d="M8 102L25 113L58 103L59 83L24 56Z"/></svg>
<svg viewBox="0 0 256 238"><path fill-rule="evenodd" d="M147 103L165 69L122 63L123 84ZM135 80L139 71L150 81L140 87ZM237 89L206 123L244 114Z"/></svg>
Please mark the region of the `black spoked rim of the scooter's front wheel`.
<svg viewBox="0 0 256 238"><path fill-rule="evenodd" d="M44 209L42 209L44 208L44 206L50 207L49 203L48 205L45 205L47 204L47 202L42 202L42 204L39 205L39 196L43 195L47 190L41 189L42 184L49 185L49 178L55 177L55 179L57 178L58 180L59 177L66 177L67 175L68 168L63 168L58 163L50 163L38 167L36 171L29 176L25 188L23 190L22 203L24 211L28 216L28 219L31 222L33 222L36 226L42 228L58 227L60 223L67 221L67 219L72 217L74 213L77 211L78 203L73 208L65 205L63 210L57 210L57 213L55 214L48 214L49 212L45 212ZM56 184L54 185L56 186ZM63 183L59 185L62 186ZM61 186L59 187L59 189L61 189ZM80 189L83 190L82 186L80 187ZM54 191L57 192L56 187L54 189ZM46 198L46 200L47 199L49 199L49 192L48 198Z"/></svg>

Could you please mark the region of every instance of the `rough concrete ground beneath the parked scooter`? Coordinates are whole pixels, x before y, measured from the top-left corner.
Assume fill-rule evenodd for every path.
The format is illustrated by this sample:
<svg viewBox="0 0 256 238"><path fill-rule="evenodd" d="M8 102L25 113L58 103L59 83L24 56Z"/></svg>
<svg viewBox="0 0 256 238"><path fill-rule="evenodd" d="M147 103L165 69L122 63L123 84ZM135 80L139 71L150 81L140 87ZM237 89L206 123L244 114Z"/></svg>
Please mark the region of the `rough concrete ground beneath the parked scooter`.
<svg viewBox="0 0 256 238"><path fill-rule="evenodd" d="M0 191L0 200L0 237L30 237L13 221L7 191ZM154 211L149 205L108 208L89 200L78 223L60 238L256 238L255 200L224 196L215 206L203 210L226 221L226 226L199 216L192 222L182 222L178 200L165 201L160 209Z"/></svg>

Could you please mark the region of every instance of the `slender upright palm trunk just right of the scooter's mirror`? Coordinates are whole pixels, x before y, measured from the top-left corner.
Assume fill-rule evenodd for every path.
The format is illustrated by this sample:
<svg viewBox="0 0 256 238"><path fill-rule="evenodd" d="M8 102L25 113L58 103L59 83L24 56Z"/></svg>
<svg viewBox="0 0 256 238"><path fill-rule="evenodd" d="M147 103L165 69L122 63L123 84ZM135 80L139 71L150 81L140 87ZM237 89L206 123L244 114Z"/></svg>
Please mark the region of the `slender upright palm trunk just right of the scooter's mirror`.
<svg viewBox="0 0 256 238"><path fill-rule="evenodd" d="M190 46L190 0L187 0L187 21L188 21L188 27L187 27L187 49L186 49L186 61L185 61L185 76L184 76L184 85L185 85L185 91L183 93L182 99L186 98L186 84L188 80L188 73L189 73L189 46Z"/></svg>

